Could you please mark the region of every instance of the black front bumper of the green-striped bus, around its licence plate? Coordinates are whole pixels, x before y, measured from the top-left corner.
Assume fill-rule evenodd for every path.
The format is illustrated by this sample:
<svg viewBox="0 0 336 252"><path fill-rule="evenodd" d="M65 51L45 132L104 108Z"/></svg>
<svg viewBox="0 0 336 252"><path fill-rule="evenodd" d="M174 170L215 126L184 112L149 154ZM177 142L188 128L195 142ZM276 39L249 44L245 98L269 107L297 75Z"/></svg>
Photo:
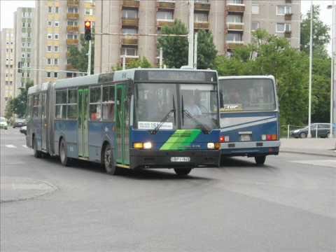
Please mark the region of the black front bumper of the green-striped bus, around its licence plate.
<svg viewBox="0 0 336 252"><path fill-rule="evenodd" d="M189 162L172 162L172 157L188 157ZM221 151L149 151L130 150L131 169L176 168L176 167L218 167Z"/></svg>

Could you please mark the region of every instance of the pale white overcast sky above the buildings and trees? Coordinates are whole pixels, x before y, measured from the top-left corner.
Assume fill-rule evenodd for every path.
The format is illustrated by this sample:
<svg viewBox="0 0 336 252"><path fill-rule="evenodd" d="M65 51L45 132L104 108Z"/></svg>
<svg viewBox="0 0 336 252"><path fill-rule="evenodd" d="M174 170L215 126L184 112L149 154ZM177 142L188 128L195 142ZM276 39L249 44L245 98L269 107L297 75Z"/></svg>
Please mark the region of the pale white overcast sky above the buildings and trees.
<svg viewBox="0 0 336 252"><path fill-rule="evenodd" d="M153 1L153 0L152 0ZM251 1L251 0L247 0ZM321 6L320 18L325 24L331 27L332 15L327 6L332 4L332 0L314 0L315 5ZM336 4L336 0L335 0ZM0 0L0 28L13 28L13 13L18 7L34 7L34 0ZM301 13L305 15L310 8L310 0L301 0ZM331 45L328 45L328 51L331 51Z"/></svg>

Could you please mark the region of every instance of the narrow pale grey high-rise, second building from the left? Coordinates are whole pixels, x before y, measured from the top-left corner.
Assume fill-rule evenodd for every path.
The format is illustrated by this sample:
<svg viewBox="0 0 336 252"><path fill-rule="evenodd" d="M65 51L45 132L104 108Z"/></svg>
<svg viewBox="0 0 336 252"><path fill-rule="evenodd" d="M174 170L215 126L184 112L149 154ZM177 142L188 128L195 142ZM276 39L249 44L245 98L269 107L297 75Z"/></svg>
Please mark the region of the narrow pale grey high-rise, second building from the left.
<svg viewBox="0 0 336 252"><path fill-rule="evenodd" d="M15 96L20 93L20 88L25 87L25 83L33 78L34 54L34 8L18 8L14 13L14 37L15 37L15 67L20 66L25 69L15 69L14 83Z"/></svg>

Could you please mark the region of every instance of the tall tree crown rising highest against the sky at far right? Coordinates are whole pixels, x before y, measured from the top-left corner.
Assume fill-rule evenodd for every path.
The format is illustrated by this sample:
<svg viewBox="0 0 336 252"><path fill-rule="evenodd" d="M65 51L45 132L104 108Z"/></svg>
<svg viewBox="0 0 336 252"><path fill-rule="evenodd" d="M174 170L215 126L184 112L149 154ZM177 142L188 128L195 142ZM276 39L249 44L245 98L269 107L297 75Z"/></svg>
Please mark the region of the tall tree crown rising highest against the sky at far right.
<svg viewBox="0 0 336 252"><path fill-rule="evenodd" d="M313 50L314 55L323 54L327 55L325 45L330 41L329 27L325 25L319 18L320 6L313 7ZM310 41L310 10L307 16L302 20L300 31L300 49L309 53L309 41Z"/></svg>

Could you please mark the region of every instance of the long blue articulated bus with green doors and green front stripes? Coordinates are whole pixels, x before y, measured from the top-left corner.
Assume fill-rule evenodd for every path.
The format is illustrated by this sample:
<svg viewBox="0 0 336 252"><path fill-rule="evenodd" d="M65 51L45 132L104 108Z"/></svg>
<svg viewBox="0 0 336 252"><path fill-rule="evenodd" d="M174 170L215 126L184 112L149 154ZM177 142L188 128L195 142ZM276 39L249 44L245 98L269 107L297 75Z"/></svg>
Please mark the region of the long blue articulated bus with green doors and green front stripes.
<svg viewBox="0 0 336 252"><path fill-rule="evenodd" d="M130 69L57 80L28 91L27 146L36 158L59 156L116 167L218 166L216 71Z"/></svg>

